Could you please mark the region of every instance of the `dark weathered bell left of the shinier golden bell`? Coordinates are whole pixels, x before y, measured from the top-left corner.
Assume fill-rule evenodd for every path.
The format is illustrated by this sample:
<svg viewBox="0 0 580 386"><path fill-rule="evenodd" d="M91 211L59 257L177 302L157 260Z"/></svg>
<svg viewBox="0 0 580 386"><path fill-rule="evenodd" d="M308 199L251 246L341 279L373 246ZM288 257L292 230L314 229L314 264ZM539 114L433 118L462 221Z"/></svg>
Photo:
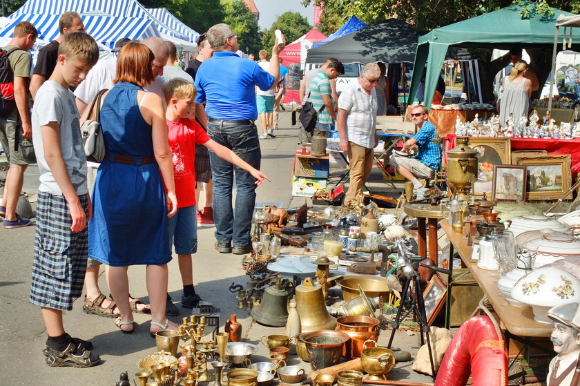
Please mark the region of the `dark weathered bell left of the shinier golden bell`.
<svg viewBox="0 0 580 386"><path fill-rule="evenodd" d="M288 291L282 289L282 278L278 278L276 285L264 291L260 306L254 307L250 315L262 325L272 327L286 325L288 320Z"/></svg>

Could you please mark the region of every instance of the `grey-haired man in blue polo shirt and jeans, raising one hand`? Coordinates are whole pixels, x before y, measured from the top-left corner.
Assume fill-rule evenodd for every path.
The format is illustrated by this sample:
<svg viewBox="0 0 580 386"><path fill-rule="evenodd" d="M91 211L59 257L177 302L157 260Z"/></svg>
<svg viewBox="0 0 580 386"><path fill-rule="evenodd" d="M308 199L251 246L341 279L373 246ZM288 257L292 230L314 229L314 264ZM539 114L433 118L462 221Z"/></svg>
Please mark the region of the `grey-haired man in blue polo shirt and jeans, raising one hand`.
<svg viewBox="0 0 580 386"><path fill-rule="evenodd" d="M197 70L196 113L202 102L206 102L209 137L231 148L242 160L259 169L262 153L258 129L254 124L258 118L254 86L264 91L276 87L280 76L278 54L286 41L284 39L280 47L276 39L270 68L265 71L255 61L235 54L239 49L238 37L227 24L211 27L207 31L207 39L214 54ZM255 178L212 152L209 157L213 175L213 221L218 240L215 249L220 253L249 253L252 251L250 229L255 204ZM233 210L231 194L234 176L238 191Z"/></svg>

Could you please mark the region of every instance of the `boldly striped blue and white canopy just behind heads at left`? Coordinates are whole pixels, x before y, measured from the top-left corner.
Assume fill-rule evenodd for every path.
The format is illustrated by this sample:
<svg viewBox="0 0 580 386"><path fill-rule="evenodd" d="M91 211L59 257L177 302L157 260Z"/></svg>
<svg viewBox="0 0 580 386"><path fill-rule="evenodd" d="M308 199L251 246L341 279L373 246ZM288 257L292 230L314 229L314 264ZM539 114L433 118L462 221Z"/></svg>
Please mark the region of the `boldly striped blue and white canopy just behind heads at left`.
<svg viewBox="0 0 580 386"><path fill-rule="evenodd" d="M0 30L0 37L10 37L14 26L20 21L30 21L39 31L39 39L52 41L59 35L60 15L11 15L10 23ZM96 41L113 49L115 42L128 37L133 40L146 39L147 37L160 37L155 23L150 19L139 17L111 17L104 15L81 15L87 32Z"/></svg>

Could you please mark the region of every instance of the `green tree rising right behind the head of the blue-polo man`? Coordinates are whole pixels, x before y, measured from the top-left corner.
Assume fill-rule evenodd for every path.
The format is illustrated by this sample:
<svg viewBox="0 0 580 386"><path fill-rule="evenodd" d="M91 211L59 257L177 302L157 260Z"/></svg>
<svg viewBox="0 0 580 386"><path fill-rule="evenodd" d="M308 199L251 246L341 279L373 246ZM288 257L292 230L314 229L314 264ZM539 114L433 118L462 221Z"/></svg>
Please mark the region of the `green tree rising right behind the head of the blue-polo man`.
<svg viewBox="0 0 580 386"><path fill-rule="evenodd" d="M242 0L222 0L224 23L238 35L240 50L258 53L261 47L260 28L252 12Z"/></svg>

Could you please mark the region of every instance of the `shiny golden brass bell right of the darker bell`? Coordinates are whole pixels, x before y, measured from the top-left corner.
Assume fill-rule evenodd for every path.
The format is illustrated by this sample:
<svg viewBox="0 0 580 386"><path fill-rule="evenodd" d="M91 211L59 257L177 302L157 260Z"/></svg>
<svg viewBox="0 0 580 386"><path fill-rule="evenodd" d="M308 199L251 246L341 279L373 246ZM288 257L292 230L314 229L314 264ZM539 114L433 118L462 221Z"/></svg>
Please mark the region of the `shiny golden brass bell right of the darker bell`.
<svg viewBox="0 0 580 386"><path fill-rule="evenodd" d="M296 287L296 310L303 333L336 327L336 319L327 311L322 286L311 278Z"/></svg>

